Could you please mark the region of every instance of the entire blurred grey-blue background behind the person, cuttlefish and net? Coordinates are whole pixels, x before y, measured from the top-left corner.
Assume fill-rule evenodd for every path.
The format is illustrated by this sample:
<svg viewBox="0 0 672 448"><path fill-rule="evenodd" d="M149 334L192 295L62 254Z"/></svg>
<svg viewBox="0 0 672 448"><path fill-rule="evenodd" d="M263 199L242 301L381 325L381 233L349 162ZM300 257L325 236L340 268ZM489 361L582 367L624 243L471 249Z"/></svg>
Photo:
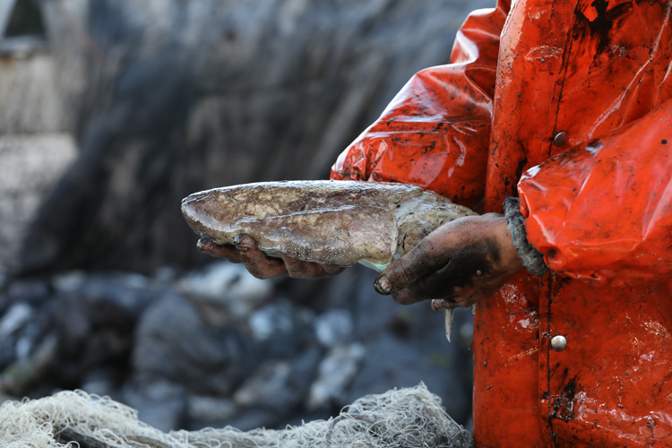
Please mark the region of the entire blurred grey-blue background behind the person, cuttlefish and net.
<svg viewBox="0 0 672 448"><path fill-rule="evenodd" d="M470 424L471 316L375 272L256 280L187 194L320 179L492 0L0 0L0 401L109 395L159 429L328 418L426 383ZM462 311L462 310L461 310Z"/></svg>

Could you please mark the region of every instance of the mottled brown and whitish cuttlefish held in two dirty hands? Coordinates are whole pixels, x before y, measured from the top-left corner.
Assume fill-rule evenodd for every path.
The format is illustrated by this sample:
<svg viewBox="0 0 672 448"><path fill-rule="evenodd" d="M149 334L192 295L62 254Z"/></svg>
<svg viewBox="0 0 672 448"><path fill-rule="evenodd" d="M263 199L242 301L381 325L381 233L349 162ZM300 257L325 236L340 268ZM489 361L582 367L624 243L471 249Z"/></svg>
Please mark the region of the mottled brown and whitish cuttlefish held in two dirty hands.
<svg viewBox="0 0 672 448"><path fill-rule="evenodd" d="M476 213L416 185L324 180L214 188L187 196L182 214L218 244L246 233L271 256L382 271L435 228Z"/></svg>

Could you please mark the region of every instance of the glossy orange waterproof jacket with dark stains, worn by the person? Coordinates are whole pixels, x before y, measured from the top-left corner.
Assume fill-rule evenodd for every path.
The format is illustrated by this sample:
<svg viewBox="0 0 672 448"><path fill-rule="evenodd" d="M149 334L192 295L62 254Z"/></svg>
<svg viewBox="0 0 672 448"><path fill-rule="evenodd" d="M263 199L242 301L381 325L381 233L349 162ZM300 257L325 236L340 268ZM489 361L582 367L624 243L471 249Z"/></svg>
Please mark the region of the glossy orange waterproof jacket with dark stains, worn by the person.
<svg viewBox="0 0 672 448"><path fill-rule="evenodd" d="M655 0L472 13L452 64L416 74L332 168L485 211L520 196L552 271L478 306L479 447L672 446L671 14Z"/></svg>

